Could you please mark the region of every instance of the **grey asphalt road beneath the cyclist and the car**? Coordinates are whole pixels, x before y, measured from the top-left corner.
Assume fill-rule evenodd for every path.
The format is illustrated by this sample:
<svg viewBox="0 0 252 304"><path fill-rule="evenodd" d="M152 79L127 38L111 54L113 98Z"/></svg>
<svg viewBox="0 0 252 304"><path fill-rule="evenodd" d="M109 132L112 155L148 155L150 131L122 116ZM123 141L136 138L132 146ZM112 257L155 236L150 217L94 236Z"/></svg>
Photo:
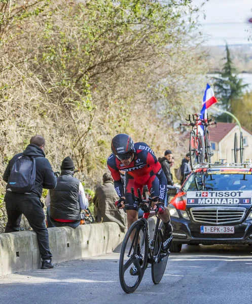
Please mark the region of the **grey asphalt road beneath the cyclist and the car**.
<svg viewBox="0 0 252 304"><path fill-rule="evenodd" d="M132 294L119 283L119 252L64 262L53 270L0 277L0 303L251 303L251 251L252 246L183 246L170 255L159 285L147 269Z"/></svg>

